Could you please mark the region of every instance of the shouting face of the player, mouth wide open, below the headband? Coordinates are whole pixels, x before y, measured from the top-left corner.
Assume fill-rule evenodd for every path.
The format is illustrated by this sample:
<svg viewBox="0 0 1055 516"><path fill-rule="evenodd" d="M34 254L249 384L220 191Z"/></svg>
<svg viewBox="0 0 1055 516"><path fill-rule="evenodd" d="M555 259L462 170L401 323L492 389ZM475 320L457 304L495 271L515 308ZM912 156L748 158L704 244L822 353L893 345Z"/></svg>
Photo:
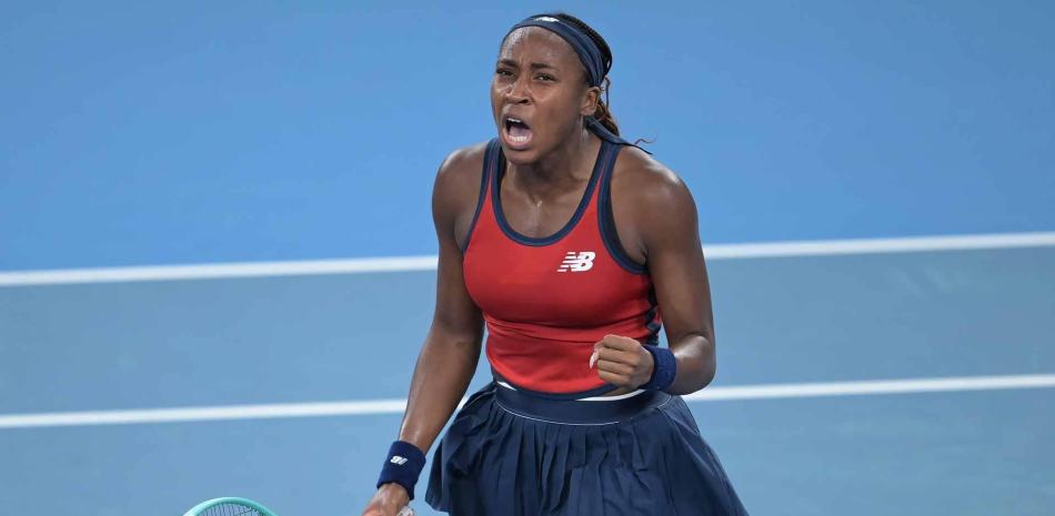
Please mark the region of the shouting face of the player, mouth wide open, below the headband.
<svg viewBox="0 0 1055 516"><path fill-rule="evenodd" d="M491 81L491 111L506 159L532 163L553 151L573 135L580 117L593 114L599 93L560 36L539 27L511 32Z"/></svg>

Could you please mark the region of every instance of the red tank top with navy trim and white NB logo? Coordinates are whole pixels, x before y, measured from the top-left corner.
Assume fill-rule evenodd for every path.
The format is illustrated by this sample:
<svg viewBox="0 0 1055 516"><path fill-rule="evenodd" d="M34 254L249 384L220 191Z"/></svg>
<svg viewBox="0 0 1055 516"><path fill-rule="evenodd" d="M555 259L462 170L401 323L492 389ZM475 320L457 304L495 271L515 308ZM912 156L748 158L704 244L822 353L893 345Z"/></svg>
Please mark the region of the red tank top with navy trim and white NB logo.
<svg viewBox="0 0 1055 516"><path fill-rule="evenodd" d="M656 343L652 279L623 251L612 217L609 185L621 149L603 141L571 220L550 236L530 237L505 221L505 158L498 140L488 145L462 265L499 380L541 393L600 394L613 386L590 368L594 343L610 333Z"/></svg>

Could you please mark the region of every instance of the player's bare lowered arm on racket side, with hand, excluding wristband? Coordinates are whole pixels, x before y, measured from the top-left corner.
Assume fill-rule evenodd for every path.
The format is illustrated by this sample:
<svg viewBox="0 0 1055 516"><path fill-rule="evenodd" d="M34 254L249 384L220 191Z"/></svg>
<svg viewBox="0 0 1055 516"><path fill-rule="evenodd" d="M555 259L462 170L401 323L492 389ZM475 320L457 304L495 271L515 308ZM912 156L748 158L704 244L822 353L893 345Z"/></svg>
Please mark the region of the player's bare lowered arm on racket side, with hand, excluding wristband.
<svg viewBox="0 0 1055 516"><path fill-rule="evenodd" d="M469 152L471 153L471 152ZM425 336L414 376L411 380L406 412L400 426L400 441L428 453L443 425L465 394L480 358L483 317L462 276L462 252L456 235L468 229L466 209L475 208L480 160L455 152L436 174L432 195L432 215L440 244L436 274L436 303L432 325ZM399 484L384 484L364 510L369 516L392 516L406 505L409 495Z"/></svg>

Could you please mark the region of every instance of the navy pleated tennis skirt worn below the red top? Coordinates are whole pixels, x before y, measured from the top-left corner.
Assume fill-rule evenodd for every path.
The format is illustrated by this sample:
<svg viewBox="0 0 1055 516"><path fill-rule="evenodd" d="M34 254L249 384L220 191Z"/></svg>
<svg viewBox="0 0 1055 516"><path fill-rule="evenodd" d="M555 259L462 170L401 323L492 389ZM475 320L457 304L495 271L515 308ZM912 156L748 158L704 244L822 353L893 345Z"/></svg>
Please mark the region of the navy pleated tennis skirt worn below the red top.
<svg viewBox="0 0 1055 516"><path fill-rule="evenodd" d="M436 447L452 516L746 515L680 396L555 401L489 384Z"/></svg>

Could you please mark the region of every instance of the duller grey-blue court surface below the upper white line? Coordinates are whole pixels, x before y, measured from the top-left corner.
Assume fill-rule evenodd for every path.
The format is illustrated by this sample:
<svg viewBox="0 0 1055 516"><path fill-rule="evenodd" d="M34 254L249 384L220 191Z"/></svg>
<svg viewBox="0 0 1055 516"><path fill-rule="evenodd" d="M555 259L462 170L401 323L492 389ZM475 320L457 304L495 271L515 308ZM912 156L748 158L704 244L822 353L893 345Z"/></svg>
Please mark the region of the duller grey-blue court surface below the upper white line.
<svg viewBox="0 0 1055 516"><path fill-rule="evenodd" d="M691 403L755 514L1053 506L1055 247L731 259L711 272L715 387L1049 377L1048 388ZM433 276L4 287L2 389L18 395L0 412L401 398ZM3 428L0 485L12 514L174 514L231 493L279 514L351 514L371 494L399 418ZM892 499L912 504L892 510Z"/></svg>

